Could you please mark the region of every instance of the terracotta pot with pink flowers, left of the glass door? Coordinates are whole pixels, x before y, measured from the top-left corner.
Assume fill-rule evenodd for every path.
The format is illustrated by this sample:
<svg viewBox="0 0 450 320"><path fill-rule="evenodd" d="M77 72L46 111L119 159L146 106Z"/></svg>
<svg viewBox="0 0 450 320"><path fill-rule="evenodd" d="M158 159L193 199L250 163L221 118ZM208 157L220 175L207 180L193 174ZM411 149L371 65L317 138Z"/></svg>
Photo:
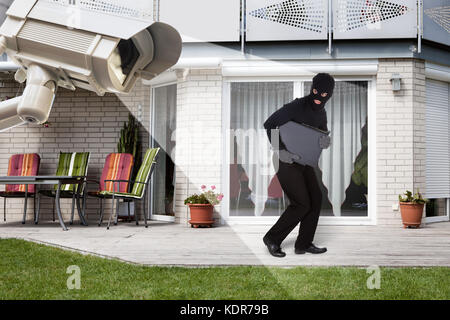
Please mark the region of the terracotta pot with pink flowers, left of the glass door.
<svg viewBox="0 0 450 320"><path fill-rule="evenodd" d="M193 194L184 200L184 204L189 206L191 220L189 223L191 227L207 226L211 227L214 223L213 209L216 204L219 204L223 198L222 193L216 193L215 186L211 186L210 190L206 191L206 186L201 186L202 193Z"/></svg>

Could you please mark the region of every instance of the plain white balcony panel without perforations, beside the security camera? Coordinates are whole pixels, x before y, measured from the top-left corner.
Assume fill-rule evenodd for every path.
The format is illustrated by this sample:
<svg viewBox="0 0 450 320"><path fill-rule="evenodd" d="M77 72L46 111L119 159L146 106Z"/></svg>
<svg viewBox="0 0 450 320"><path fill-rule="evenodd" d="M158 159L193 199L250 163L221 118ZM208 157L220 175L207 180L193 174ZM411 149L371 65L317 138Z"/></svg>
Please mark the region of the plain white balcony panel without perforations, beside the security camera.
<svg viewBox="0 0 450 320"><path fill-rule="evenodd" d="M160 21L183 42L239 41L239 0L161 0Z"/></svg>

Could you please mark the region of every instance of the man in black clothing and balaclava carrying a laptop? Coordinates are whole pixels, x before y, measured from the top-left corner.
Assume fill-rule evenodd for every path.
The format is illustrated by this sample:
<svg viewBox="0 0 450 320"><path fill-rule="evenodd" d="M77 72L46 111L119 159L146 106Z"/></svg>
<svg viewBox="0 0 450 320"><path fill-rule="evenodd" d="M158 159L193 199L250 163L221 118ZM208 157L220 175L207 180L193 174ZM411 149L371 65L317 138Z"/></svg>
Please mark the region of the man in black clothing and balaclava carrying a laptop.
<svg viewBox="0 0 450 320"><path fill-rule="evenodd" d="M276 174L289 199L289 206L263 238L270 254L275 257L286 255L281 250L281 243L299 222L301 224L295 242L295 253L323 253L327 250L318 248L312 243L322 204L322 192L314 168L294 162L299 159L299 156L286 150L281 139L278 141L279 148L274 148L271 133L273 129L277 129L288 121L304 123L328 131L325 103L331 98L333 90L333 77L328 73L319 73L313 78L308 96L296 98L285 104L264 122L264 128L267 130L274 150L272 160L274 167L278 168ZM329 145L330 138L322 137L321 148L326 149Z"/></svg>

